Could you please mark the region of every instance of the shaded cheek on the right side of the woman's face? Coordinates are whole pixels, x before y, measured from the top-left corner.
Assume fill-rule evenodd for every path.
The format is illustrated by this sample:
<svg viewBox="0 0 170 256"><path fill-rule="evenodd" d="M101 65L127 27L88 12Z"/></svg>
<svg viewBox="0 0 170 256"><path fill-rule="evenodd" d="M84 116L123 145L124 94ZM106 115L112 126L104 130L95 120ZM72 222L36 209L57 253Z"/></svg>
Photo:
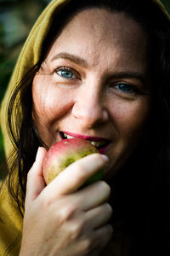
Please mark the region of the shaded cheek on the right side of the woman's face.
<svg viewBox="0 0 170 256"><path fill-rule="evenodd" d="M127 158L133 154L149 117L150 100L144 98L140 101L116 102L110 113L112 122L116 127L116 137L113 134L115 141L109 153L112 159L109 167L110 172L108 171L109 178L120 170Z"/></svg>

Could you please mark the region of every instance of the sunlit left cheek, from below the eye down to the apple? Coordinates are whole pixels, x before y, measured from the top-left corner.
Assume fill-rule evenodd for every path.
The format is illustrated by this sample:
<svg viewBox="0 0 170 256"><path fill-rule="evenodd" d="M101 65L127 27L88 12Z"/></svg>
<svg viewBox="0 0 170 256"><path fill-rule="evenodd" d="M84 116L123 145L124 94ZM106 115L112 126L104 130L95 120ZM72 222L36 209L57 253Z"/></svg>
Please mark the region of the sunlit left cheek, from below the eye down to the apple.
<svg viewBox="0 0 170 256"><path fill-rule="evenodd" d="M32 99L32 119L43 143L50 147L56 142L59 120L71 109L73 96L58 89L56 84L48 79L35 77L32 84Z"/></svg>

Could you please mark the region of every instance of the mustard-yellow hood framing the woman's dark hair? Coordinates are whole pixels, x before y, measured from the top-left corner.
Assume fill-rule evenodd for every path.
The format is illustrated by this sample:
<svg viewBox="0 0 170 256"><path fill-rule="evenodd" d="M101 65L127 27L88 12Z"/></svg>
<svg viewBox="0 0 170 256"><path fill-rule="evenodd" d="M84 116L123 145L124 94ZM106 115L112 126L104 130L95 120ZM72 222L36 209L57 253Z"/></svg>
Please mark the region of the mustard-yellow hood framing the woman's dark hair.
<svg viewBox="0 0 170 256"><path fill-rule="evenodd" d="M11 92L14 90L14 86L16 86L16 84L19 84L20 79L22 79L24 75L27 73L27 71L30 70L30 68L33 67L39 60L39 57L41 55L42 42L48 32L48 27L51 24L54 11L56 9L59 10L65 3L68 3L69 1L71 0L54 0L48 4L46 9L44 9L42 14L39 16L37 22L31 29L31 32L26 40L26 43L24 44L23 49L20 52L20 56L14 68L14 73L8 84L8 89L6 91L1 106L1 126L3 131L6 154L8 154L10 148L12 147L6 128L6 109L8 106L8 100L11 95ZM167 11L167 9L159 0L155 0L155 2L159 4L164 14L167 15L167 19L170 19L170 15L168 13L169 9Z"/></svg>

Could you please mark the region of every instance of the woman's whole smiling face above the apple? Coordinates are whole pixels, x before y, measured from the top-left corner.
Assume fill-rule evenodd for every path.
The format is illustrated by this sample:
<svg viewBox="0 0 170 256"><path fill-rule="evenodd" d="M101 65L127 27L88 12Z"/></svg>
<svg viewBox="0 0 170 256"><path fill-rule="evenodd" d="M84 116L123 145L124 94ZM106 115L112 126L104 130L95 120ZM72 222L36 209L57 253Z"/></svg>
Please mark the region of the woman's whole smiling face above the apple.
<svg viewBox="0 0 170 256"><path fill-rule="evenodd" d="M125 163L150 111L147 38L127 15L86 9L65 26L33 79L32 116L48 147L65 137L92 141Z"/></svg>

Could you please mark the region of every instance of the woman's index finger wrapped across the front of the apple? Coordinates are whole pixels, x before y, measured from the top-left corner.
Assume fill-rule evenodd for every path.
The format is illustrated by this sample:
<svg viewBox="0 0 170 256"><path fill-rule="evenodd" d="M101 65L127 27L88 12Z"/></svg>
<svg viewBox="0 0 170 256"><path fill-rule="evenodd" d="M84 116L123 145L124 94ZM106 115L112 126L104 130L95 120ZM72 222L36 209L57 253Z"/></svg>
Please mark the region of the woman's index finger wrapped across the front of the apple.
<svg viewBox="0 0 170 256"><path fill-rule="evenodd" d="M60 172L54 180L48 184L49 193L57 195L71 194L87 181L94 173L104 168L108 158L102 154L90 154L77 160Z"/></svg>

